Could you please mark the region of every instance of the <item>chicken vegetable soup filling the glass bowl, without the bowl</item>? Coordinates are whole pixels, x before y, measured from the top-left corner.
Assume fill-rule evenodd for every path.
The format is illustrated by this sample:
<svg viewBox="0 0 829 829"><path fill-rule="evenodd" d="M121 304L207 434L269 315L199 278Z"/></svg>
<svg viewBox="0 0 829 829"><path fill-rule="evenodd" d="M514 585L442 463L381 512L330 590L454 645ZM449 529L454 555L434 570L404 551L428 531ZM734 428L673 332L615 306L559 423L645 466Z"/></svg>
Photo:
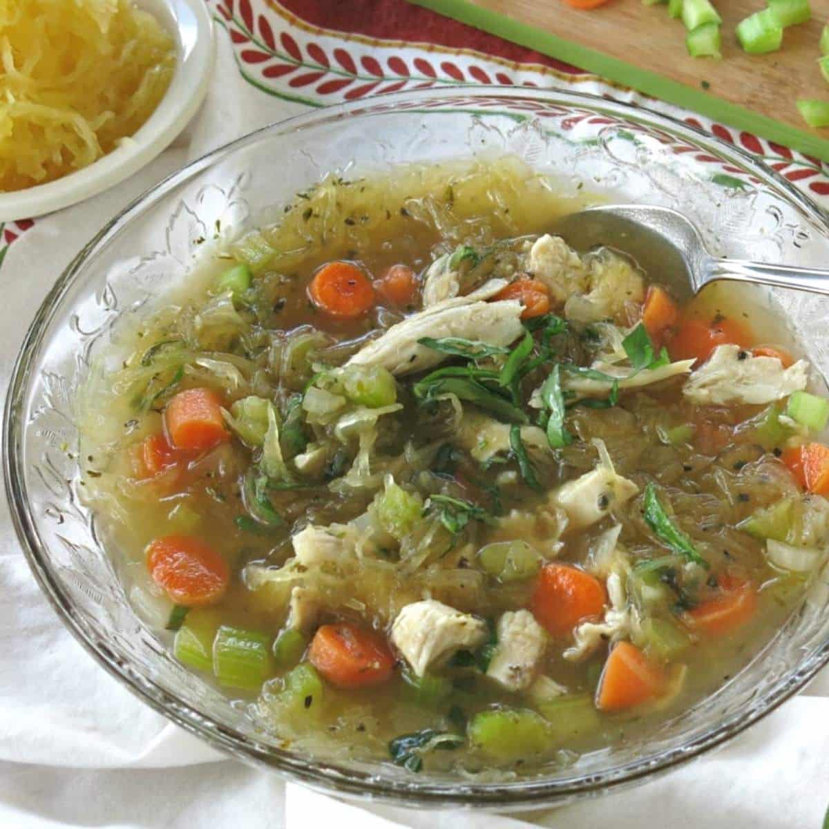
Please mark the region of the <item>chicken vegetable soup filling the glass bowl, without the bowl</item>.
<svg viewBox="0 0 829 829"><path fill-rule="evenodd" d="M722 686L822 564L806 361L545 232L574 209L513 159L328 178L80 395L138 611L285 742L570 763Z"/></svg>

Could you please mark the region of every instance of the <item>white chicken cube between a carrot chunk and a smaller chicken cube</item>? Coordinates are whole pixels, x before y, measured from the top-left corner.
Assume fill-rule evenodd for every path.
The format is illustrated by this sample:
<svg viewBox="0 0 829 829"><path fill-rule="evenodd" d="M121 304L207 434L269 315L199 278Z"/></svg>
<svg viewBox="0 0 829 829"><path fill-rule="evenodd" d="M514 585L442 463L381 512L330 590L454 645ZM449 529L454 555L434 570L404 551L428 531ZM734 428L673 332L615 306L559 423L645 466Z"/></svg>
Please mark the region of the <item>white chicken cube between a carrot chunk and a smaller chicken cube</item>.
<svg viewBox="0 0 829 829"><path fill-rule="evenodd" d="M488 635L483 619L434 599L407 604L391 626L391 642L417 676L461 648L472 650L482 645Z"/></svg>

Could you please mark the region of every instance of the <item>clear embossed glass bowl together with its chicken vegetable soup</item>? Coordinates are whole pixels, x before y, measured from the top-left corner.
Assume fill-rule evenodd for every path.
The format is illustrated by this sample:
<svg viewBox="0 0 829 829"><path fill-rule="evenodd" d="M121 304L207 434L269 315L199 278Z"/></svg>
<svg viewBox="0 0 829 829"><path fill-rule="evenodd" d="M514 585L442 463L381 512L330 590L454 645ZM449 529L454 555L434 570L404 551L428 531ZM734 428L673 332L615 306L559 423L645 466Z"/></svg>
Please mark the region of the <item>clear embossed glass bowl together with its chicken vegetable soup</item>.
<svg viewBox="0 0 829 829"><path fill-rule="evenodd" d="M733 148L517 91L303 116L114 220L9 398L70 628L218 747L400 802L562 802L782 701L826 658L823 302L545 235L611 200L827 250Z"/></svg>

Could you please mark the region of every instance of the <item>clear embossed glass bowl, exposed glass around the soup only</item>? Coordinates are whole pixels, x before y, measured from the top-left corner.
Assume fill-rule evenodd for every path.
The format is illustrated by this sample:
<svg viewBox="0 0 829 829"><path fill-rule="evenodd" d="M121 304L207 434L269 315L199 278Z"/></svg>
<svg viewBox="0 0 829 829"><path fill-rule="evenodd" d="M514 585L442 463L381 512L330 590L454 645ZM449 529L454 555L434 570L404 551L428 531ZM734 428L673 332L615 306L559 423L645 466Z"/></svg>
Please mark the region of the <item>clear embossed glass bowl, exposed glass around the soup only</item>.
<svg viewBox="0 0 829 829"><path fill-rule="evenodd" d="M420 807L548 807L638 783L754 723L829 659L829 589L815 579L773 641L714 696L646 738L569 767L482 782L388 763L309 756L263 732L186 671L133 613L85 507L73 395L114 334L182 279L200 243L273 221L327 172L505 153L550 174L564 196L671 206L719 255L820 266L829 223L806 197L734 146L625 104L558 91L454 88L384 95L274 124L177 172L115 216L57 280L12 376L3 453L32 572L64 623L143 701L207 743L330 793ZM829 299L768 290L817 371L829 369Z"/></svg>

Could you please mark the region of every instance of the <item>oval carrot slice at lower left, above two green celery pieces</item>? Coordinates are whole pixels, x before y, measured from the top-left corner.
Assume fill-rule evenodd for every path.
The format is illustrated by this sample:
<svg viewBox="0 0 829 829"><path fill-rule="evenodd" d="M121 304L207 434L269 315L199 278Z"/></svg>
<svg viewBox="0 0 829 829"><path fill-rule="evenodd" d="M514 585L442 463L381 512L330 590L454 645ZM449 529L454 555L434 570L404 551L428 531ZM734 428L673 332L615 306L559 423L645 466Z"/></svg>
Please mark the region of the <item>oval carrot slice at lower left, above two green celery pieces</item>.
<svg viewBox="0 0 829 829"><path fill-rule="evenodd" d="M193 536L162 536L147 548L153 581L176 604L213 604L225 594L230 570L211 546Z"/></svg>

